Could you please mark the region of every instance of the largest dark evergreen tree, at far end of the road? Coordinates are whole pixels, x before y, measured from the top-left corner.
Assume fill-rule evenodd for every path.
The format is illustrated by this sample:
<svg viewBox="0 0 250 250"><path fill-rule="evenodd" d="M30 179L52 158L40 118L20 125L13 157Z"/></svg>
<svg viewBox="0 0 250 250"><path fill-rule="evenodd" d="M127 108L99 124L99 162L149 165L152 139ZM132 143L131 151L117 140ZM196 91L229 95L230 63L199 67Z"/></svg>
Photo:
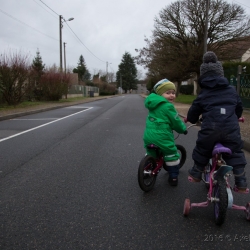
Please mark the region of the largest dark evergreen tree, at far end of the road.
<svg viewBox="0 0 250 250"><path fill-rule="evenodd" d="M121 86L122 82L122 89L125 90L125 93L130 89L137 89L137 68L130 53L125 52L118 67L116 73L117 87Z"/></svg>

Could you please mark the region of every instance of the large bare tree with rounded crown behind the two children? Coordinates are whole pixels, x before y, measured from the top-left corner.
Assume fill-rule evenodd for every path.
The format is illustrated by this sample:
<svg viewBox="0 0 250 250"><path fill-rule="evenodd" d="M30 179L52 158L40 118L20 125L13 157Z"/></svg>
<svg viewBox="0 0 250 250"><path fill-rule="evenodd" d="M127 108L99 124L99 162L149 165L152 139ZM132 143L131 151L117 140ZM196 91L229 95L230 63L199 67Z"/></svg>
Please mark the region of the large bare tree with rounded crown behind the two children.
<svg viewBox="0 0 250 250"><path fill-rule="evenodd" d="M148 68L155 81L165 76L181 82L196 73L202 62L206 20L206 1L182 0L162 9L155 18L151 39L137 50L137 63ZM210 0L208 50L220 60L231 57L232 41L249 39L250 19L237 4ZM235 50L235 46L234 46Z"/></svg>

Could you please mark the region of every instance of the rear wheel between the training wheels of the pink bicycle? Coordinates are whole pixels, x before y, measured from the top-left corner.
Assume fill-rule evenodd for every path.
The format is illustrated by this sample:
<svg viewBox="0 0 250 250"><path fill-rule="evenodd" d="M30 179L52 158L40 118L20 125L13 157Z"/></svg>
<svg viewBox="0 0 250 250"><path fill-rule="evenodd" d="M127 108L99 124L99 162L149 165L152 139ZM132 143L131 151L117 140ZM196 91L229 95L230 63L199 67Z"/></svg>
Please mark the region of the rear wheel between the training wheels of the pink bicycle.
<svg viewBox="0 0 250 250"><path fill-rule="evenodd" d="M228 207L227 184L224 178L218 178L214 186L214 218L216 225L222 225L226 218Z"/></svg>

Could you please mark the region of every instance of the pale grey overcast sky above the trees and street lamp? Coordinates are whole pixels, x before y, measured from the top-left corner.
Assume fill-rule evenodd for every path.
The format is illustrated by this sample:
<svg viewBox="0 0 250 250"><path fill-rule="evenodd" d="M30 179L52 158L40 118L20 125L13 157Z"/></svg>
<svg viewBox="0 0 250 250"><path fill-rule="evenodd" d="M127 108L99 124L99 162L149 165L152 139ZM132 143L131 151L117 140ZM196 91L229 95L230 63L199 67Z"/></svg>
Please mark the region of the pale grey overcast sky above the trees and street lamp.
<svg viewBox="0 0 250 250"><path fill-rule="evenodd" d="M118 70L125 52L136 56L150 38L154 18L174 0L0 0L0 53L21 51L30 61L39 49L43 63L60 65L59 15L65 20L62 42L66 65L77 66L83 55L91 74ZM250 14L249 0L228 0ZM62 46L63 48L64 46ZM64 49L63 49L64 50ZM64 65L64 56L63 56ZM143 70L137 65L138 70Z"/></svg>

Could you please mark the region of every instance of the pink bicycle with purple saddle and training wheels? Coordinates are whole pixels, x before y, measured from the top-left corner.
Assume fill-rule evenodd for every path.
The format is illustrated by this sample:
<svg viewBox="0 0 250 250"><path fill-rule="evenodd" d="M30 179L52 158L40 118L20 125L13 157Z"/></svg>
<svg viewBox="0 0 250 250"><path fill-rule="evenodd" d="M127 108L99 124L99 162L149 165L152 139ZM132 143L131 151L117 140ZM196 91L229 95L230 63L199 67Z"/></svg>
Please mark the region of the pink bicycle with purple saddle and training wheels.
<svg viewBox="0 0 250 250"><path fill-rule="evenodd" d="M244 117L239 119L240 122L244 122ZM185 120L185 122L187 122ZM190 125L196 126L196 124ZM230 171L232 167L228 166L223 160L223 154L231 154L229 148L224 147L222 144L217 143L214 146L212 152L212 158L209 164L206 166L203 173L203 182L208 188L207 200L200 203L191 203L190 199L185 199L183 215L188 216L191 209L194 207L207 207L210 203L214 204L214 218L216 225L222 225L226 218L227 209L242 210L245 212L246 219L250 220L250 202L246 206L238 206L233 204L234 192L240 192L237 188L232 188L229 183ZM192 181L192 178L189 178ZM242 193L242 192L240 192ZM244 193L249 193L247 189Z"/></svg>

